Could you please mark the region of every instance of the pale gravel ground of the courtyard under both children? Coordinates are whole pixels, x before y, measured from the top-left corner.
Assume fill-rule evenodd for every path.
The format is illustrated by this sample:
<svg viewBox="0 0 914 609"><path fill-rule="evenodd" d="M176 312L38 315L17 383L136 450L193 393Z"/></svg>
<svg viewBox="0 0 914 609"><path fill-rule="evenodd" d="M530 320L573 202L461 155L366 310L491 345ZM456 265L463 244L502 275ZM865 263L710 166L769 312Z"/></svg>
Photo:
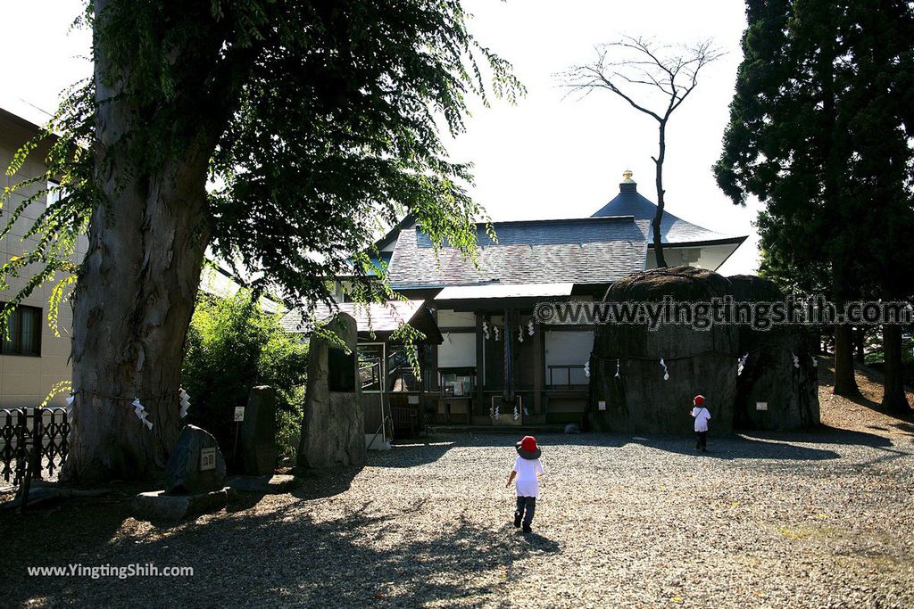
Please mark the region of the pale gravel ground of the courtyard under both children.
<svg viewBox="0 0 914 609"><path fill-rule="evenodd" d="M132 488L0 515L0 604L914 606L914 425L866 401L823 407L847 428L712 430L707 455L691 438L541 436L527 536L505 489L515 437L501 435L372 453L360 470L174 528L130 518ZM75 562L195 575L26 576Z"/></svg>

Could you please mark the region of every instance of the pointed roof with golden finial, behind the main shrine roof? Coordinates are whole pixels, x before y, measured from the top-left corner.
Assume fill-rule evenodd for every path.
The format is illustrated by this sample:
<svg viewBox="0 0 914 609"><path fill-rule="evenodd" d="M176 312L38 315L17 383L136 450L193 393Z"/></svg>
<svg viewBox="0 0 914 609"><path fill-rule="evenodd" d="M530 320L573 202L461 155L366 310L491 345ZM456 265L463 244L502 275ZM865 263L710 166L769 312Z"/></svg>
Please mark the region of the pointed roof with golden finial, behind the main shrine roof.
<svg viewBox="0 0 914 609"><path fill-rule="evenodd" d="M621 191L616 198L600 208L596 214L591 217L603 217L611 215L632 215L635 224L641 228L644 238L648 243L654 241L654 228L651 223L654 221L654 215L657 213L657 205L650 200L638 194L634 182L623 182L619 184ZM660 223L660 238L666 243L696 243L702 241L741 241L742 236L724 235L717 233L701 226L696 226L691 222L686 222L682 218L670 214L664 209L664 219Z"/></svg>

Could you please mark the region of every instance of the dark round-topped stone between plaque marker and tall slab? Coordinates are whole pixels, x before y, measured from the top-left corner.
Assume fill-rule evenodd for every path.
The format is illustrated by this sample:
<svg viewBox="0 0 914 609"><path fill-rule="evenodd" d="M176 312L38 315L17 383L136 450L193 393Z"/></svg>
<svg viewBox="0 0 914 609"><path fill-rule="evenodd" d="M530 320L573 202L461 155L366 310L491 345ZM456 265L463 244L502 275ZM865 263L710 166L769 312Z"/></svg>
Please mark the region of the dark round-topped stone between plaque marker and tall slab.
<svg viewBox="0 0 914 609"><path fill-rule="evenodd" d="M272 387L250 390L248 407L241 423L241 460L244 473L267 476L276 468L276 396Z"/></svg>

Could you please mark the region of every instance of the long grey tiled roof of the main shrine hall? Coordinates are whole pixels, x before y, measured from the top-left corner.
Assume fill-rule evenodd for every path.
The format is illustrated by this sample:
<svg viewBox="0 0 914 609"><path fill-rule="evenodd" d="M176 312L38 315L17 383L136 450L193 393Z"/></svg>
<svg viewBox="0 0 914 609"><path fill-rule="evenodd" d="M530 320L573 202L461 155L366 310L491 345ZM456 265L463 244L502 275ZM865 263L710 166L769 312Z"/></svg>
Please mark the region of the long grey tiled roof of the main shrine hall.
<svg viewBox="0 0 914 609"><path fill-rule="evenodd" d="M436 253L428 235L405 227L390 260L394 289L486 283L611 283L644 269L647 242L628 217L494 224L498 242L477 227L477 265L447 244Z"/></svg>

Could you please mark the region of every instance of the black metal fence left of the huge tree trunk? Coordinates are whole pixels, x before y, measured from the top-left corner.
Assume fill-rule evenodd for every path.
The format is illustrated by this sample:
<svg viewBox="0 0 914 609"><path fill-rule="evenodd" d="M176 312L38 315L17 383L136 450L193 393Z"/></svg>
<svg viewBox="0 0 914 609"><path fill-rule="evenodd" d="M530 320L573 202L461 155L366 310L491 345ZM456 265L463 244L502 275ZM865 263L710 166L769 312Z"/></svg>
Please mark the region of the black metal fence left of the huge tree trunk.
<svg viewBox="0 0 914 609"><path fill-rule="evenodd" d="M18 486L54 478L69 452L66 408L0 410L0 478Z"/></svg>

